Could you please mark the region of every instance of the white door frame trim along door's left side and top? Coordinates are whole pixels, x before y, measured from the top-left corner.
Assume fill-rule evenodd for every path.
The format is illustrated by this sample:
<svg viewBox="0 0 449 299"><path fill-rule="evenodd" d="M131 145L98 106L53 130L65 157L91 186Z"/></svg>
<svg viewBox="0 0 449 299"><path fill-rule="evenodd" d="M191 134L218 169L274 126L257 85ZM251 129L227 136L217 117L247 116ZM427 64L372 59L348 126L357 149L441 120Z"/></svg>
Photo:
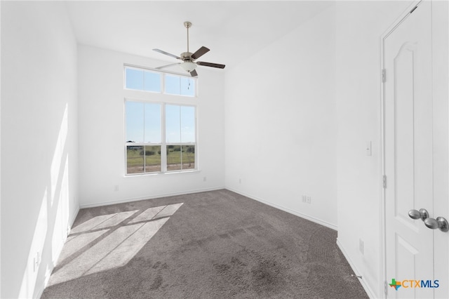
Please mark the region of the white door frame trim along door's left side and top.
<svg viewBox="0 0 449 299"><path fill-rule="evenodd" d="M403 21L405 21L410 14L413 12L414 8L419 6L422 1L431 1L431 0L415 0L406 8L401 15L396 18L396 20L388 27L388 29L380 36L380 253L381 253L381 263L380 263L380 286L379 286L379 294L382 294L382 298L387 298L387 288L388 288L388 280L387 280L387 244L385 241L386 237L386 211L385 211L385 187L384 187L384 177L385 177L385 88L384 88L384 40L394 32L394 30L401 25ZM387 182L388 183L388 182Z"/></svg>

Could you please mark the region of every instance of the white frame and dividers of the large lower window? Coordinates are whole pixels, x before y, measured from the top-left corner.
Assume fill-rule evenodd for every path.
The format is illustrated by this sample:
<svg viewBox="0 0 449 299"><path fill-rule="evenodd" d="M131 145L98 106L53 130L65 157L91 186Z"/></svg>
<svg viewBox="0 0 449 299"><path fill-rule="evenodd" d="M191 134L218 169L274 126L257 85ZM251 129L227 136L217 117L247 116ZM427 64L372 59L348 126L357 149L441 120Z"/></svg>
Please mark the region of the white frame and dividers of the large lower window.
<svg viewBox="0 0 449 299"><path fill-rule="evenodd" d="M160 113L161 113L161 142L128 142L127 136L126 136L126 102L142 102L144 104L144 111L145 111L145 103L151 103L151 104L159 104L160 105ZM176 105L180 107L193 107L194 108L194 124L195 124L195 138L194 142L167 142L166 138L166 105ZM145 112L144 112L145 113ZM145 115L145 114L144 114ZM145 121L145 117L144 117ZM147 99L135 99L135 98L124 98L123 100L123 124L124 124L124 170L125 170L125 176L135 176L135 175L155 175L155 174L168 174L168 173L189 173L194 171L199 171L199 164L198 164L198 106L195 104L190 103L179 103L179 102L163 102L163 101L155 101L155 100L147 100ZM144 129L144 135L145 135L145 122L143 125ZM180 145L182 146L188 146L188 145L194 145L194 168L187 168L187 169L177 169L177 170L168 170L168 159L167 159L167 147L169 145ZM152 172L141 172L141 173L128 173L128 147L129 146L160 146L161 147L161 171L152 171ZM181 151L182 153L182 151ZM144 152L144 161L145 161L145 152ZM181 154L182 159L182 154ZM181 161L181 167L182 167L182 161ZM146 167L146 164L144 164L144 168Z"/></svg>

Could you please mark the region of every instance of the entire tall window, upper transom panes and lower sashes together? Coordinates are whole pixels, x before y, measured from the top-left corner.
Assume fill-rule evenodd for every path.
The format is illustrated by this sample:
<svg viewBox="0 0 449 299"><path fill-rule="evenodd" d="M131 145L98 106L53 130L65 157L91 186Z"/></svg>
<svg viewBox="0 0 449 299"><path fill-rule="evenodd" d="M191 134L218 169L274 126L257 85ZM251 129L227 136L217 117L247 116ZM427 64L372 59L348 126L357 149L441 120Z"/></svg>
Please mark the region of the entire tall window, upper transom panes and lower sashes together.
<svg viewBox="0 0 449 299"><path fill-rule="evenodd" d="M127 175L196 169L196 106L164 101L195 97L195 87L195 78L124 66L125 90L150 92L125 100Z"/></svg>

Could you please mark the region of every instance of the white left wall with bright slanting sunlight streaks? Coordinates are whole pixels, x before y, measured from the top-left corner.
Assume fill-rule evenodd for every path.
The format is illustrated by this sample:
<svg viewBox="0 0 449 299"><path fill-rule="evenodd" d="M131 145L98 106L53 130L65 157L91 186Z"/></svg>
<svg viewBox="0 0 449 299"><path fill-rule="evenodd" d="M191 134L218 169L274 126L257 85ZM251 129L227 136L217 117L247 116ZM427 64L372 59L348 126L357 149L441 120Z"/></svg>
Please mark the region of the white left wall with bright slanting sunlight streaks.
<svg viewBox="0 0 449 299"><path fill-rule="evenodd" d="M0 296L36 298L79 206L76 41L64 4L2 1L1 72Z"/></svg>

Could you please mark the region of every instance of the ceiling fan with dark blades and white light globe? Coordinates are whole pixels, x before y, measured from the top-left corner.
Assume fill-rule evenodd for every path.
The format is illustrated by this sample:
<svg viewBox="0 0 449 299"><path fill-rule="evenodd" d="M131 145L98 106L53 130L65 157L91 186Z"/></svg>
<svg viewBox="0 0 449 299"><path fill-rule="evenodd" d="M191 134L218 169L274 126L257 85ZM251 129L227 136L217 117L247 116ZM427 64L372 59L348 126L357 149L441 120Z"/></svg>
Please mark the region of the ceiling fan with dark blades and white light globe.
<svg viewBox="0 0 449 299"><path fill-rule="evenodd" d="M205 46L202 46L199 48L195 53L189 52L189 28L192 27L191 22L184 22L184 27L187 28L187 52L181 53L180 57L167 53L166 51L162 51L159 49L153 49L153 51L162 53L164 55L168 55L170 57L182 60L182 62L172 63L171 65L163 65L162 67L156 67L156 69L163 69L165 67L171 67L172 65L180 65L182 69L184 69L186 72L188 72L192 77L198 77L198 73L196 72L196 66L202 65L204 67L217 67L218 69L224 69L225 65L220 65L218 63L212 63L212 62L203 62L203 61L196 61L198 58L200 58L202 55L208 53L209 49Z"/></svg>

